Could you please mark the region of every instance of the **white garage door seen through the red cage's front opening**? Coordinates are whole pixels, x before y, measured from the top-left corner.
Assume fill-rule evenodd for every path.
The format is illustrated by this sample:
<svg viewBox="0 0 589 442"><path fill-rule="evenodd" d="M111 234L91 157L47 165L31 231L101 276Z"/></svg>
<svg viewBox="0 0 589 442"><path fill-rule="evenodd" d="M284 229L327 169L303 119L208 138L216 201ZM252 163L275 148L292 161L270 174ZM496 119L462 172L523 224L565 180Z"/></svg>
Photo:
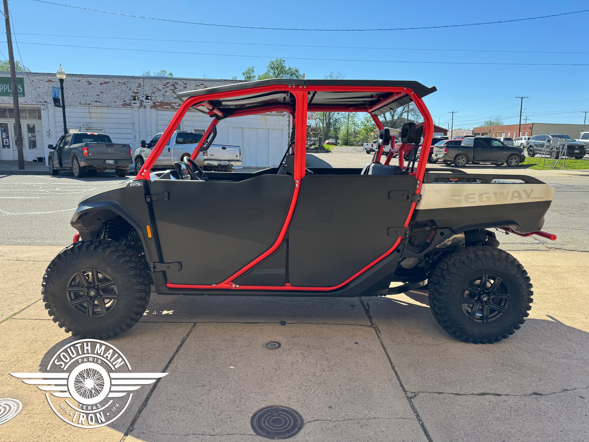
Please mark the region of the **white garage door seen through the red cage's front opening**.
<svg viewBox="0 0 589 442"><path fill-rule="evenodd" d="M284 129L231 127L231 144L241 146L245 167L278 166L286 150Z"/></svg>

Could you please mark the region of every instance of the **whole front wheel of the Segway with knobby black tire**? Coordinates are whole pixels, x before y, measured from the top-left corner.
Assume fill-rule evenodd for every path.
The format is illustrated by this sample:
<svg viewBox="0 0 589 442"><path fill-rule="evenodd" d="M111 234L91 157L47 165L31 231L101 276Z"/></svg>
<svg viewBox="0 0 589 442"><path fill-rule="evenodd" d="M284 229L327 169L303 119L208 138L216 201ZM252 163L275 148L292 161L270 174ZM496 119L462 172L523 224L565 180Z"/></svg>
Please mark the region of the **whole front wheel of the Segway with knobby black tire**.
<svg viewBox="0 0 589 442"><path fill-rule="evenodd" d="M151 278L137 251L107 239L78 241L49 264L41 293L54 322L84 339L114 338L147 308Z"/></svg>

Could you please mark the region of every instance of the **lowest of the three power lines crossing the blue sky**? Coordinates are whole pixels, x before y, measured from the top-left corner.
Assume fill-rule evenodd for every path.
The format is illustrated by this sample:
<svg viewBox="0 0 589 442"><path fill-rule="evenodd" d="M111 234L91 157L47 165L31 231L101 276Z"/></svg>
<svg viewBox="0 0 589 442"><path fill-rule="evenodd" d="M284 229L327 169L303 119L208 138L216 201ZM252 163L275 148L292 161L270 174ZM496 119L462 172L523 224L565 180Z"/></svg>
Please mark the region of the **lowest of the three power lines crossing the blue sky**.
<svg viewBox="0 0 589 442"><path fill-rule="evenodd" d="M41 0L35 0L41 1ZM210 52L185 52L185 51L157 51L157 50L149 50L149 49L128 49L128 48L106 48L106 47L99 47L99 46L80 46L80 45L60 45L54 43L32 43L32 42L25 42L21 41L21 44L28 44L28 45L41 45L41 46L58 46L63 48L84 48L84 49L104 49L109 51L133 51L133 52L157 52L160 54L185 54L185 55L215 55L218 57L246 57L246 58L286 58L288 60L317 60L317 61L358 61L358 62L385 62L385 63L396 63L396 60L366 60L363 58L362 60L358 59L349 59L349 58L310 58L310 57L275 57L269 55L244 55L244 54L214 54ZM466 62L466 61L418 61L418 60L411 60L411 61L403 61L403 63L418 63L418 64L453 64L453 65L501 65L501 66L509 66L509 65L521 65L521 63L491 63L491 62ZM571 63L571 64L550 64L550 63L526 63L527 66L589 66L587 63Z"/></svg>

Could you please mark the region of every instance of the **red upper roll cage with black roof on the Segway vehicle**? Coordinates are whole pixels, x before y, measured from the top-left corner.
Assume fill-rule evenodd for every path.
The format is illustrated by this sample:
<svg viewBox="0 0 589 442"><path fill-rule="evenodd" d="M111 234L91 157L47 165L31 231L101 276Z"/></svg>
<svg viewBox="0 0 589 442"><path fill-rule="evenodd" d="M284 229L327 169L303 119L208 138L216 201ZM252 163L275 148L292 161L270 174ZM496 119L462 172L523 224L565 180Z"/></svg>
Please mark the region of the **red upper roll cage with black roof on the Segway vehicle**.
<svg viewBox="0 0 589 442"><path fill-rule="evenodd" d="M389 85L396 83L399 85ZM408 84L408 85L403 85ZM317 112L366 112L369 113L376 127L382 130L383 125L378 118L378 111L383 108L389 107L394 103L402 103L399 105L405 105L409 102L415 103L418 110L423 116L423 146L431 146L433 137L434 121L429 114L428 108L423 103L422 97L420 97L415 89L420 89L423 93L429 94L435 91L435 88L426 88L423 85L414 81L373 81L373 80L264 80L264 81L252 81L248 83L233 84L225 87L210 88L198 91L191 91L187 93L178 94L177 98L183 100L180 108L174 114L174 117L168 124L166 130L158 140L157 144L145 161L143 168L138 172L136 179L150 179L150 170L153 167L155 160L160 156L164 146L170 140L174 130L178 127L181 120L186 115L187 111L191 108L197 108L201 112L206 112L211 118L211 123L205 131L203 137L199 141L198 145L191 154L191 158L194 160L200 153L200 149L204 146L207 139L209 138L213 126L219 124L224 118L240 117L246 115L269 113L275 111L286 111L293 117L294 126L294 183L295 188L299 189L300 182L305 176L305 155L306 155L306 138L307 138L307 111ZM378 91L381 98L376 103L369 104L313 104L312 98L315 97L316 93L371 93ZM222 105L216 105L215 103L221 100L231 97L246 97L247 101L249 97L263 97L269 93L290 93L294 97L294 103L289 104L276 104L267 103L261 105L252 105L247 107L244 105L242 108L226 110ZM385 95L385 97L382 97ZM377 94L378 96L378 94ZM370 98L373 98L370 95ZM253 99L250 98L250 101ZM334 101L337 101L334 100ZM342 101L342 100L340 100ZM346 101L345 99L343 101ZM349 99L348 101L352 101ZM356 100L358 101L358 100ZM294 104L294 105L293 105ZM395 106L399 107L399 106ZM201 110L203 109L203 110ZM393 144L391 144L391 147ZM407 145L402 144L399 149L399 166L403 167L403 151ZM429 148L431 149L431 148ZM382 156L383 147L381 146L376 153L375 160L380 161ZM392 151L392 149L391 149ZM416 177L418 180L418 189L416 192L419 193L421 189L421 183L423 181L423 174L425 173L425 167L428 159L429 150L422 151L419 157L418 166L416 169L411 171L410 174ZM389 153L386 159L386 164L389 164L392 159L392 153ZM296 201L296 197L294 198Z"/></svg>

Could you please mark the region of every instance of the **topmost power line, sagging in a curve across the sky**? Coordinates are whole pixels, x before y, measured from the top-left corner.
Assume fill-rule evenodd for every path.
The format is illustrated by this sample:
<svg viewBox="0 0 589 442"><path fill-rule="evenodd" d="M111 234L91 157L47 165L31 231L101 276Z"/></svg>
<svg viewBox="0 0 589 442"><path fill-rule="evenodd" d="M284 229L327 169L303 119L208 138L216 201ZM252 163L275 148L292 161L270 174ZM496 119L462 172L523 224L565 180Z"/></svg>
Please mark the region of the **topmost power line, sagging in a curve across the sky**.
<svg viewBox="0 0 589 442"><path fill-rule="evenodd" d="M166 21L166 22L171 22L171 23L182 23L182 24L188 24L188 25L214 26L214 27L221 27L221 28L240 28L240 29L266 29L266 30L272 30L272 31L328 31L328 32L358 31L358 32L368 32L368 31L409 31L409 30L413 30L413 29L460 28L460 27L467 27L467 26L494 25L494 24L499 24L499 23L512 23L512 22L518 22L518 21L537 20L540 18L560 17L562 15L581 14L582 12L589 12L589 9L584 9L583 11L562 12L561 14L541 15L538 17L515 18L512 20L487 21L487 22L468 23L468 24L461 24L461 25L439 25L439 26L422 26L422 27L411 27L411 28L382 28L382 29L368 29L368 28L365 28L365 29L307 29L307 28L266 28L266 27L257 27L257 26L219 25L219 24L213 24L213 23L200 23L200 22L183 21L183 20L171 20L171 19L167 19L167 18L145 17L144 15L122 14L121 12L111 12L111 11L102 11L101 9L82 8L82 6L64 5L61 3L48 2L46 0L33 0L33 1L39 2L39 3L47 3L49 5L65 6L67 8L82 9L84 11L102 12L102 14L120 15L122 17L144 18L144 19L148 19L148 20Z"/></svg>

